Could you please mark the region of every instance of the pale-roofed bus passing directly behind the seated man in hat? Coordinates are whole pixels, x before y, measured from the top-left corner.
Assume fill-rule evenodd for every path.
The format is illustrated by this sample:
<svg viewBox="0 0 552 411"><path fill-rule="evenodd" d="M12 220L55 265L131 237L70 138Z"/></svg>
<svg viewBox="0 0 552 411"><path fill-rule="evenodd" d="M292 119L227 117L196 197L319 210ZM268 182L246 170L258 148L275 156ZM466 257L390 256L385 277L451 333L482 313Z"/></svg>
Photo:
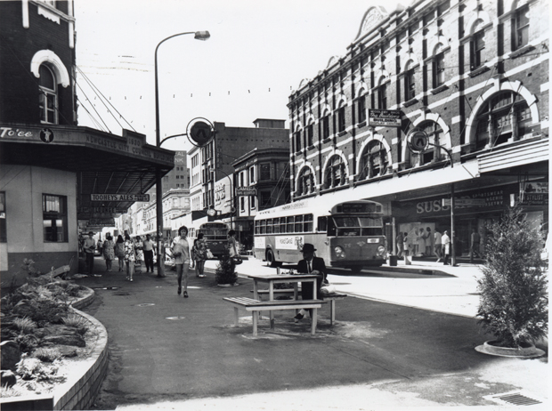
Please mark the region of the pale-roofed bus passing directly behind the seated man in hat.
<svg viewBox="0 0 552 411"><path fill-rule="evenodd" d="M255 217L255 256L272 267L303 258L304 243L332 267L361 270L386 262L383 206L375 201L328 205L304 199L260 211Z"/></svg>

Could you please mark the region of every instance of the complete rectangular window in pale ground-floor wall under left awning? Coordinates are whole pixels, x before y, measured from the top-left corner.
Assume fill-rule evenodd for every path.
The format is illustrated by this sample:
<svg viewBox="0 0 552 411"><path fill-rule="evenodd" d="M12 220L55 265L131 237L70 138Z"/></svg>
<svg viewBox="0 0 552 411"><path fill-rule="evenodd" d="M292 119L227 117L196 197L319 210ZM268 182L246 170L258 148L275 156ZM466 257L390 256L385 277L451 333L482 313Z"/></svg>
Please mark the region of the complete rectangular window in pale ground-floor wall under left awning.
<svg viewBox="0 0 552 411"><path fill-rule="evenodd" d="M46 243L66 243L67 197L42 195L44 240Z"/></svg>

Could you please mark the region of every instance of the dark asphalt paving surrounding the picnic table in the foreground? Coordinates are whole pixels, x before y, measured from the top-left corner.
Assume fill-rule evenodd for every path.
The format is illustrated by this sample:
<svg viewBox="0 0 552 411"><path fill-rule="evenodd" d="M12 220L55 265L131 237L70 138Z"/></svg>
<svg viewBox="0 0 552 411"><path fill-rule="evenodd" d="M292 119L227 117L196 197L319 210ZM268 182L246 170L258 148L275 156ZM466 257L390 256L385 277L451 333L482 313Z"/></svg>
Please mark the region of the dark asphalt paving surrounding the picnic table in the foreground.
<svg viewBox="0 0 552 411"><path fill-rule="evenodd" d="M223 302L225 296L249 296L248 279L219 287L213 273L192 274L190 298L183 299L176 294L175 271L166 278L137 274L133 283L124 273L99 274L77 280L94 288L96 299L85 311L109 334L110 368L97 409L157 409L160 402L195 409L188 407L191 399L211 399L225 409L231 396L295 392L306 398L321 387L355 384L366 392L377 386L393 400L379 404L370 391L364 401L355 391L339 409L489 406L496 402L484 397L519 388L482 379L484 370L507 367L511 359L474 350L491 339L475 318L348 297L337 302L335 326L329 326L329 308L321 310L315 336L308 320L295 324L291 311L275 311L275 331L263 320L253 337L250 316L241 311L239 327L233 327L233 308Z"/></svg>

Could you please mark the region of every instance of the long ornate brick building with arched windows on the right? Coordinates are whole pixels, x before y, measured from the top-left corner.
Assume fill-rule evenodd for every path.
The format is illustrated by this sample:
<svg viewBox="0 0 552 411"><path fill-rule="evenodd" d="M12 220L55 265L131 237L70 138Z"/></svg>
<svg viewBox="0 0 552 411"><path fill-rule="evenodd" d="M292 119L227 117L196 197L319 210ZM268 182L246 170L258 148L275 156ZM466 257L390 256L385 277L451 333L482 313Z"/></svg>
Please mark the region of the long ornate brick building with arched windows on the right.
<svg viewBox="0 0 552 411"><path fill-rule="evenodd" d="M294 201L374 199L388 238L415 237L450 230L454 190L459 253L515 203L548 231L548 24L544 0L370 7L345 56L289 97Z"/></svg>

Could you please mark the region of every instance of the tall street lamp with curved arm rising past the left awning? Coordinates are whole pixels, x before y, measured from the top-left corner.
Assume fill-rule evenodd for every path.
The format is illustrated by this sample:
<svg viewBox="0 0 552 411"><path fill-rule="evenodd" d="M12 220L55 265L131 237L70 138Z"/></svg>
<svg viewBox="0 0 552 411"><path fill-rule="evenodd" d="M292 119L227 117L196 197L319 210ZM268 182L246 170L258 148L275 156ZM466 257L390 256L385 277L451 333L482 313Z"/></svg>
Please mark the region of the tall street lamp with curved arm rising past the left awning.
<svg viewBox="0 0 552 411"><path fill-rule="evenodd" d="M159 85L158 85L158 49L159 45L166 40L184 35L194 35L197 40L207 40L211 35L208 31L187 31L178 33L173 36L168 36L161 40L155 48L155 145L161 147L161 133L159 130ZM155 193L156 193L156 213L157 213L157 238L158 238L158 277L165 277L165 259L163 257L163 180L161 177L161 169L159 166L155 169Z"/></svg>

